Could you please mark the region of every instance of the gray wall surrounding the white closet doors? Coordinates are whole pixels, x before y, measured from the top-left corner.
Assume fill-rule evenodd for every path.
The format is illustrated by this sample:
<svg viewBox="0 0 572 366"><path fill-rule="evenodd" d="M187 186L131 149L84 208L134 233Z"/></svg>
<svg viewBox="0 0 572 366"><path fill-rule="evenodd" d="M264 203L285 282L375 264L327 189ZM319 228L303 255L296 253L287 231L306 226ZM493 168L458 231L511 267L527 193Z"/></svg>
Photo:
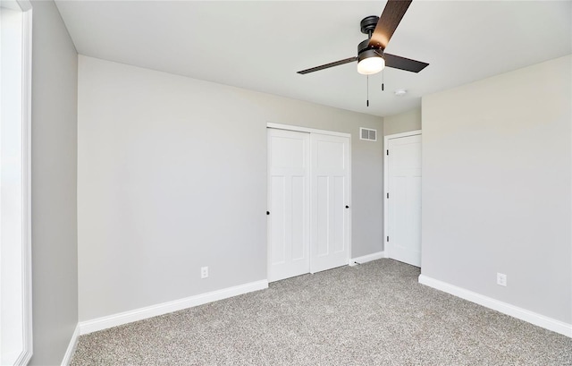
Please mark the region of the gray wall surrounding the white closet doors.
<svg viewBox="0 0 572 366"><path fill-rule="evenodd" d="M267 122L352 134L352 256L383 249L380 117L86 56L78 112L80 320L266 278Z"/></svg>

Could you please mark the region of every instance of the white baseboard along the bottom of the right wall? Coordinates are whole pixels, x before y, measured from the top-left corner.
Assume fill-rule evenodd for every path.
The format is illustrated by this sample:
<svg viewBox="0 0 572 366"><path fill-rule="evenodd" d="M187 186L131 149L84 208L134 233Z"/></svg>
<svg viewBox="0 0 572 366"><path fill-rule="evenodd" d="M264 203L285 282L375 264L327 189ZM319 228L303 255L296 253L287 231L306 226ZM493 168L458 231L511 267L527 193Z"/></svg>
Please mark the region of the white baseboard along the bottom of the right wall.
<svg viewBox="0 0 572 366"><path fill-rule="evenodd" d="M419 283L441 290L444 293L455 295L461 299L468 300L469 302L478 303L479 305L483 305L485 308L500 311L503 314L510 315L511 317L525 320L535 326L551 330L564 336L572 337L572 324L568 324L557 319L551 319L536 312L527 311L526 309L519 308L507 302L501 302L499 300L492 299L491 297L477 294L456 285L450 285L446 282L426 277L424 275L419 275Z"/></svg>

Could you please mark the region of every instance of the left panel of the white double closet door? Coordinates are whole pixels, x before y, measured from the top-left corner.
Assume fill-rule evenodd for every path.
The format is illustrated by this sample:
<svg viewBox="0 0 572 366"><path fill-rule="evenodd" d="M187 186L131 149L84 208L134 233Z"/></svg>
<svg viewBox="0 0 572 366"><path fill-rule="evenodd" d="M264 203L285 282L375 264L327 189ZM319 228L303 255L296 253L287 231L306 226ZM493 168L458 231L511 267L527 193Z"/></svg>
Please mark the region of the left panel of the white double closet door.
<svg viewBox="0 0 572 366"><path fill-rule="evenodd" d="M268 281L299 276L309 261L309 133L268 131Z"/></svg>

